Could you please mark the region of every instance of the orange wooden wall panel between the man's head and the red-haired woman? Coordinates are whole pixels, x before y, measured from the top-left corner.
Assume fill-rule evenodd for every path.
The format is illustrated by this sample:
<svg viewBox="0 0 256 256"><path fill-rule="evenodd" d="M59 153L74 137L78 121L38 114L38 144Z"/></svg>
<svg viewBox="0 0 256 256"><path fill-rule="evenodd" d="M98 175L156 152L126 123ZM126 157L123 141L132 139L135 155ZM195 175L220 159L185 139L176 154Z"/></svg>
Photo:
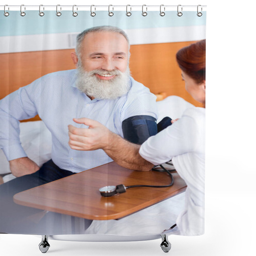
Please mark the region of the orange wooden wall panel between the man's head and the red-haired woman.
<svg viewBox="0 0 256 256"><path fill-rule="evenodd" d="M132 45L132 76L155 94L165 92L167 96L177 95L195 106L202 107L185 90L185 83L176 62L176 52L192 43L194 42Z"/></svg>

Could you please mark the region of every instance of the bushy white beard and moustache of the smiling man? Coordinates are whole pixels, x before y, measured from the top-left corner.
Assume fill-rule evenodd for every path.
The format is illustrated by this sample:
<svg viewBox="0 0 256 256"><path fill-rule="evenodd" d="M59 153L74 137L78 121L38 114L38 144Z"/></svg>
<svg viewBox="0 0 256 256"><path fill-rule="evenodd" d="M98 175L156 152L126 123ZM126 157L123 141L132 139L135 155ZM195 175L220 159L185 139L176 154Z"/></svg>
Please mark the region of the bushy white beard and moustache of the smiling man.
<svg viewBox="0 0 256 256"><path fill-rule="evenodd" d="M110 80L102 80L95 76L99 75L116 75ZM130 69L127 67L123 73L118 69L107 71L104 69L95 69L85 71L81 62L77 65L76 87L84 92L87 96L96 99L114 100L126 94L130 89Z"/></svg>

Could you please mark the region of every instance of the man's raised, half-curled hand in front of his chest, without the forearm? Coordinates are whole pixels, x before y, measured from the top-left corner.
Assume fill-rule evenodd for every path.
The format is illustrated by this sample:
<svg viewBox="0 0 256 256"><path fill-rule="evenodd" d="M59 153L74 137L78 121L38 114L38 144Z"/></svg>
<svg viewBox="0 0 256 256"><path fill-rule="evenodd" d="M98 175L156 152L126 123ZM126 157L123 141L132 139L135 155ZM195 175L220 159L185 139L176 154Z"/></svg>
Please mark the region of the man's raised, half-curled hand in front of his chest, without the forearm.
<svg viewBox="0 0 256 256"><path fill-rule="evenodd" d="M89 118L74 118L77 124L85 124L89 128L77 128L68 125L68 144L70 148L76 150L107 150L110 147L111 137L115 134L110 132L107 127Z"/></svg>

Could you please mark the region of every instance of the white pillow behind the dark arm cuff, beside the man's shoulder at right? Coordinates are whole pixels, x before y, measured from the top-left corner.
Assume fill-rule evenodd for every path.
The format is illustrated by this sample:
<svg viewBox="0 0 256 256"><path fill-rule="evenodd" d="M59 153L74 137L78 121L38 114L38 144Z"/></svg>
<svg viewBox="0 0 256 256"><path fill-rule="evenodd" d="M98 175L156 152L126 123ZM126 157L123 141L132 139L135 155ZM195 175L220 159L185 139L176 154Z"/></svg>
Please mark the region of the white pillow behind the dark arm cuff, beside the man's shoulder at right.
<svg viewBox="0 0 256 256"><path fill-rule="evenodd" d="M169 116L172 119L180 118L187 108L195 108L195 106L188 101L174 95L166 97L164 100L157 101L156 107L158 110L157 123L165 116Z"/></svg>

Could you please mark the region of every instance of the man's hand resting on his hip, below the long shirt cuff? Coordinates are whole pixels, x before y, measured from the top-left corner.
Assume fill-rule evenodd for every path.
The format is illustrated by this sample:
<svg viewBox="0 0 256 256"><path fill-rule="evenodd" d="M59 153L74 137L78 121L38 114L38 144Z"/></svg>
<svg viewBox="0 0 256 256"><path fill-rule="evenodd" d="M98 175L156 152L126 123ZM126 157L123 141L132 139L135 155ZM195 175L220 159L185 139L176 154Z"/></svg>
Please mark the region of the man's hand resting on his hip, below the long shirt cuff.
<svg viewBox="0 0 256 256"><path fill-rule="evenodd" d="M21 157L9 161L10 170L15 177L31 174L38 171L39 166L28 157Z"/></svg>

